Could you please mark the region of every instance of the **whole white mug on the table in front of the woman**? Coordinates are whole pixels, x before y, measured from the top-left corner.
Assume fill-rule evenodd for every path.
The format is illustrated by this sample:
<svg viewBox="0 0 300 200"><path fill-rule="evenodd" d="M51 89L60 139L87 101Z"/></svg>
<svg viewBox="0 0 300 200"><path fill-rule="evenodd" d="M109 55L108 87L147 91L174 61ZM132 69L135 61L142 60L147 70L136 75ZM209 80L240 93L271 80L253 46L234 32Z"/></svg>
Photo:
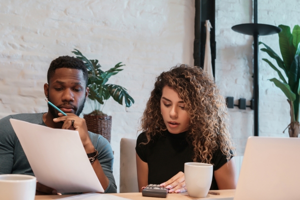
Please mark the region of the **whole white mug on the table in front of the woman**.
<svg viewBox="0 0 300 200"><path fill-rule="evenodd" d="M191 197L206 197L212 180L212 164L184 163L184 178L187 193Z"/></svg>

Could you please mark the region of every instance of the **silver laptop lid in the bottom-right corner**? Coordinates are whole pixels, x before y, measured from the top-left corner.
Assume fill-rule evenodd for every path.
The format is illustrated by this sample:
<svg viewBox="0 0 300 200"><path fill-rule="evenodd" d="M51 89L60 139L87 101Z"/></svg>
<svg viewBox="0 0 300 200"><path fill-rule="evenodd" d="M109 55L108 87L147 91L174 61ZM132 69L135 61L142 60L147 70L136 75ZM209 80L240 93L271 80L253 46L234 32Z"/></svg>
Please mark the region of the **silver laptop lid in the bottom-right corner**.
<svg viewBox="0 0 300 200"><path fill-rule="evenodd" d="M234 195L247 199L300 199L300 138L248 138Z"/></svg>

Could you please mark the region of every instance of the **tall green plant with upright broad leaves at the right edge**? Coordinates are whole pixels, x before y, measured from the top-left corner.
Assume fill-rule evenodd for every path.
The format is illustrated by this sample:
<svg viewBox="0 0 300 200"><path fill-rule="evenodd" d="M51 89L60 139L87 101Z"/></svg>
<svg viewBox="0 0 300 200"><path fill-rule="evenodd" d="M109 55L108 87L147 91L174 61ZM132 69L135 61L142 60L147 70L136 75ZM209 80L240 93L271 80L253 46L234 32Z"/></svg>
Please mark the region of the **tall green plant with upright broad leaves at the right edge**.
<svg viewBox="0 0 300 200"><path fill-rule="evenodd" d="M300 26L295 25L292 32L286 25L279 25L282 29L279 35L279 47L282 59L265 43L259 42L265 46L260 50L266 52L271 58L275 59L279 68L281 68L287 78L281 71L266 58L262 58L272 67L279 75L277 78L269 79L279 87L287 97L290 105L290 123L288 124L288 134L290 137L297 137L299 134L299 94L300 94ZM287 128L286 127L286 128ZM285 128L285 129L286 129ZM284 130L285 130L284 129ZM283 132L284 132L283 130Z"/></svg>

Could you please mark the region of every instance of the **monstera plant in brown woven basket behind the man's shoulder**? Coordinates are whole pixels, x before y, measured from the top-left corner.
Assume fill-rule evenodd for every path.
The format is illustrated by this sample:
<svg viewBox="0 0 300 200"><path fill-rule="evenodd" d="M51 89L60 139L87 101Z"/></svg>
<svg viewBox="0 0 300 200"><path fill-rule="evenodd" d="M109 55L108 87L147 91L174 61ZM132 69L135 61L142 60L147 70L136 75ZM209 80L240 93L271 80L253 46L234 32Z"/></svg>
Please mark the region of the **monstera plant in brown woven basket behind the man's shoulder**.
<svg viewBox="0 0 300 200"><path fill-rule="evenodd" d="M107 116L107 114L102 112L104 102L112 96L112 98L121 105L124 99L126 107L130 107L132 103L134 103L133 98L124 87L116 84L106 84L110 76L123 70L119 67L124 66L124 64L119 62L109 70L103 71L97 59L87 59L77 49L74 49L72 52L78 59L84 62L88 72L88 98L93 100L93 111L83 115L87 129L91 132L101 134L110 142L111 116Z"/></svg>

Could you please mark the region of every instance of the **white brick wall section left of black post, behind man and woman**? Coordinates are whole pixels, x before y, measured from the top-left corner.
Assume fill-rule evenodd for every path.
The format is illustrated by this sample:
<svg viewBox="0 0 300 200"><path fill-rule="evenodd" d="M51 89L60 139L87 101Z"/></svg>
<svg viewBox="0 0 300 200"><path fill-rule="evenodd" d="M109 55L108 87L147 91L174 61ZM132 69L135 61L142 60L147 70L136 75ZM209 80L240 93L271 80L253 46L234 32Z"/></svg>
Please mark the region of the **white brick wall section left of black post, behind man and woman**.
<svg viewBox="0 0 300 200"><path fill-rule="evenodd" d="M129 108L108 100L112 115L113 174L119 182L119 142L136 138L138 119L154 78L176 63L193 63L193 0L1 0L0 118L47 110L43 84L50 61L97 58L104 70L126 66L109 83L128 89ZM83 113L91 111L87 101Z"/></svg>

